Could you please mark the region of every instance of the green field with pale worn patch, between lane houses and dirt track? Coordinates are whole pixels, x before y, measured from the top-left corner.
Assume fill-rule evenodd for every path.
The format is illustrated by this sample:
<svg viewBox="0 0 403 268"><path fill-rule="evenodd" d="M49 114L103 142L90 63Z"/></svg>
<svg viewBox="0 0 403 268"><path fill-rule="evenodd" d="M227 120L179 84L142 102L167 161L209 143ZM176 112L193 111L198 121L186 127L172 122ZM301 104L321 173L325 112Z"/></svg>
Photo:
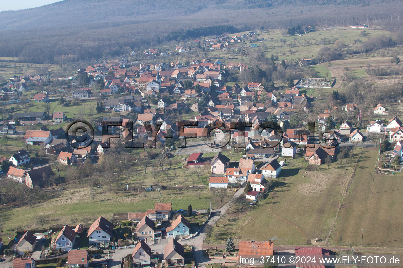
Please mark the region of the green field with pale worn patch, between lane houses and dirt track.
<svg viewBox="0 0 403 268"><path fill-rule="evenodd" d="M326 237L351 174L351 162L345 161L340 168L337 162L329 169L322 165L310 172L304 170L306 165L302 158L287 159L270 195L241 212L239 207L233 209L218 223L208 243L224 244L231 235L235 241L272 239L276 245L306 245L307 240Z"/></svg>

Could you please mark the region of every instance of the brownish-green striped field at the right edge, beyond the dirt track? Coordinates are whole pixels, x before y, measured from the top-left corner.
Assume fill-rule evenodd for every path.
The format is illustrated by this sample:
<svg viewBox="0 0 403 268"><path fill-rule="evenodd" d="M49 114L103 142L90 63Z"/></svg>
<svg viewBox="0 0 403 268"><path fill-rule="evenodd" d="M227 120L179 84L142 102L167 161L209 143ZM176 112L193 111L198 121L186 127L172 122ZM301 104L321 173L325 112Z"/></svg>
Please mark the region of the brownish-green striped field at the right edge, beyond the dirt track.
<svg viewBox="0 0 403 268"><path fill-rule="evenodd" d="M339 213L332 244L340 242L371 247L401 248L403 246L403 174L376 174L374 193L372 176L378 158L371 149L361 155L351 188Z"/></svg>

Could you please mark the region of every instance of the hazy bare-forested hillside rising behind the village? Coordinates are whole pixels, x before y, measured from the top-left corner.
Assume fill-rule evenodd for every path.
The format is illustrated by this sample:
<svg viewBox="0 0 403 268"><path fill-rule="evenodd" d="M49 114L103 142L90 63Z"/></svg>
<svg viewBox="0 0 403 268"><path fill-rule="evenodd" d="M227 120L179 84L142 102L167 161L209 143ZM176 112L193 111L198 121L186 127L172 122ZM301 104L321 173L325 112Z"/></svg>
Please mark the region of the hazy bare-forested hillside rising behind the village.
<svg viewBox="0 0 403 268"><path fill-rule="evenodd" d="M193 38L261 26L365 23L397 31L402 11L400 1L376 0L64 0L0 12L0 56L33 63L87 60L184 39L186 33ZM225 26L209 29L213 25ZM187 31L192 28L202 29Z"/></svg>

